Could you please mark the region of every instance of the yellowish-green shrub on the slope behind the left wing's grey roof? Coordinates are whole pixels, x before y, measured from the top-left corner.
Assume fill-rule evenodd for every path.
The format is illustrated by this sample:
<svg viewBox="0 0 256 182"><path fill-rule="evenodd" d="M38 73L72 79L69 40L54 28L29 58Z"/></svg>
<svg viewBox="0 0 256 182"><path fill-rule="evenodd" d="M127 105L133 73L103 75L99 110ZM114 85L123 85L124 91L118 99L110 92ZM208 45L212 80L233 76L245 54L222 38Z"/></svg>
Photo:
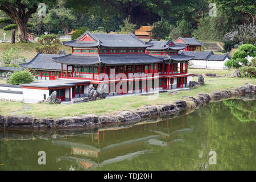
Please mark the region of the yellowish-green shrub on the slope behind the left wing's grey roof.
<svg viewBox="0 0 256 182"><path fill-rule="evenodd" d="M36 52L49 54L57 54L59 52L60 40L57 39L55 34L42 35L38 42L42 46L35 47Z"/></svg>

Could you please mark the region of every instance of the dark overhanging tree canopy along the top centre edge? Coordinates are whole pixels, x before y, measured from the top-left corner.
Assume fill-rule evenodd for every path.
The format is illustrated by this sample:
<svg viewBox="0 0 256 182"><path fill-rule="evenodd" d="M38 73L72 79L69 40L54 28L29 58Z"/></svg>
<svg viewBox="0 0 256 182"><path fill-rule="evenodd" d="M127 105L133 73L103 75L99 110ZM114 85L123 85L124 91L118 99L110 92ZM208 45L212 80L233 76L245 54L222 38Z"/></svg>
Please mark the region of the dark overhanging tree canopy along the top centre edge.
<svg viewBox="0 0 256 182"><path fill-rule="evenodd" d="M66 6L77 13L113 18L115 15L127 18L131 23L147 24L160 20L169 22L191 19L205 6L205 0L67 0Z"/></svg>

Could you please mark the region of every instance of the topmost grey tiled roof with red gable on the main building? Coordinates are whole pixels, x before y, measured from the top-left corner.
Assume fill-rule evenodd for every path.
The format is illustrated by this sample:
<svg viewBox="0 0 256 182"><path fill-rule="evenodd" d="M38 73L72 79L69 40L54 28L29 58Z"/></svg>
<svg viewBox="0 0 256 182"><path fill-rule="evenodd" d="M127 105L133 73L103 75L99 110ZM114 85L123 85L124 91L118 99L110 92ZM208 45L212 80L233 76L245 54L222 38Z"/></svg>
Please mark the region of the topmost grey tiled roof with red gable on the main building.
<svg viewBox="0 0 256 182"><path fill-rule="evenodd" d="M93 39L90 41L79 41L85 35L90 36ZM89 31L86 31L79 38L71 40L68 42L63 42L64 46L72 47L137 47L137 48L146 48L152 46L152 43L144 42L143 40L137 38L137 36L129 34L91 34Z"/></svg>

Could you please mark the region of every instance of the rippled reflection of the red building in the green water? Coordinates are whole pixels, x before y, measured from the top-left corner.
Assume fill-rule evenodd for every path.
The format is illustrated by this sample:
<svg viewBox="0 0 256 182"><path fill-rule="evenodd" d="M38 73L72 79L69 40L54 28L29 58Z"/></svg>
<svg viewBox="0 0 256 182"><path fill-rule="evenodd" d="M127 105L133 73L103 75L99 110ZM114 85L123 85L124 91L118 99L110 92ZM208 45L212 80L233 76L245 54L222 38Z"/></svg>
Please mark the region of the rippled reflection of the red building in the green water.
<svg viewBox="0 0 256 182"><path fill-rule="evenodd" d="M130 127L98 129L97 133L53 140L52 144L71 148L71 154L59 160L75 160L84 169L91 170L152 152L152 145L171 147L175 142L184 142L179 133L193 131L186 121L187 115L183 115Z"/></svg>

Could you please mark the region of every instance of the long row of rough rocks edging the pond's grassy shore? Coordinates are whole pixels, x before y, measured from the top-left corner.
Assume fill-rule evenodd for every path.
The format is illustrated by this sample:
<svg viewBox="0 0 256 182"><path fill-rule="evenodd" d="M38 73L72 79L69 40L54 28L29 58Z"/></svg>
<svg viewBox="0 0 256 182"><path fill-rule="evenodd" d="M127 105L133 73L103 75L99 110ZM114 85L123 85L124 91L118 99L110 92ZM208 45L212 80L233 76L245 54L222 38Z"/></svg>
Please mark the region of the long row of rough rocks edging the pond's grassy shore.
<svg viewBox="0 0 256 182"><path fill-rule="evenodd" d="M121 111L115 115L93 115L87 114L76 117L63 118L35 118L27 115L0 115L0 127L22 127L22 128L71 128L71 127L91 127L103 123L117 123L126 121L139 121L146 117L153 117L164 114L179 114L184 110L193 110L196 107L207 104L209 101L218 101L226 98L240 97L241 95L255 94L256 85L246 84L237 86L230 90L213 92L210 94L198 94L195 97L184 96L182 100L177 100L171 104L158 106L146 105L136 111Z"/></svg>

